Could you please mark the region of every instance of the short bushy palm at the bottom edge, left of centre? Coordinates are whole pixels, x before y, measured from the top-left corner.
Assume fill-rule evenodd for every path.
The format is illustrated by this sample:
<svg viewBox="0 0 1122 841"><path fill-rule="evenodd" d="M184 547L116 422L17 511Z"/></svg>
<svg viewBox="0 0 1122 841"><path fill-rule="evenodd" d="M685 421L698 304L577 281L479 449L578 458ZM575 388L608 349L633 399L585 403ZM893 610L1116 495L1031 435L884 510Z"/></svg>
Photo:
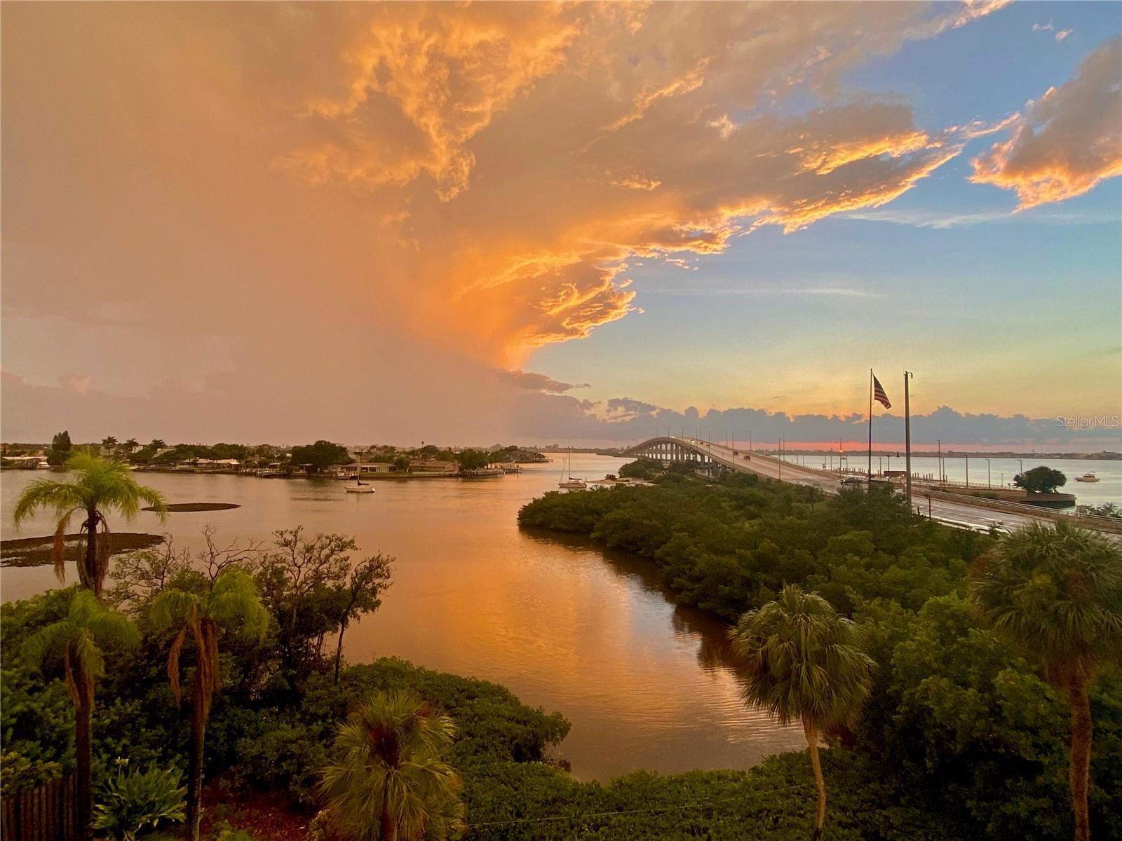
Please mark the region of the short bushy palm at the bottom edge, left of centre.
<svg viewBox="0 0 1122 841"><path fill-rule="evenodd" d="M442 758L456 724L412 692L377 692L339 727L321 771L328 817L357 841L443 839L465 829L460 775Z"/></svg>

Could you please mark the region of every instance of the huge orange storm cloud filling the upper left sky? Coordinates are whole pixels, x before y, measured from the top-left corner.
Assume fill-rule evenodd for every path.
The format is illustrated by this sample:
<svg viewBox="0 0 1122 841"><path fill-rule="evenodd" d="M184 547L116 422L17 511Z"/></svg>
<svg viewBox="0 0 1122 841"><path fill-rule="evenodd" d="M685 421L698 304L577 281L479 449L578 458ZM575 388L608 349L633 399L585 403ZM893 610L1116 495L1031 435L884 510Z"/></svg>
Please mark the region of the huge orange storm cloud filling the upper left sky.
<svg viewBox="0 0 1122 841"><path fill-rule="evenodd" d="M495 367L640 312L634 258L692 264L760 224L877 206L957 154L965 129L824 93L946 19L914 3L6 7L6 315L76 325L89 358L40 354L33 380L94 370L91 403L174 379L191 406L255 417L301 390L324 423L351 394L442 418L450 395L497 388ZM112 342L91 332L89 289L128 322Z"/></svg>

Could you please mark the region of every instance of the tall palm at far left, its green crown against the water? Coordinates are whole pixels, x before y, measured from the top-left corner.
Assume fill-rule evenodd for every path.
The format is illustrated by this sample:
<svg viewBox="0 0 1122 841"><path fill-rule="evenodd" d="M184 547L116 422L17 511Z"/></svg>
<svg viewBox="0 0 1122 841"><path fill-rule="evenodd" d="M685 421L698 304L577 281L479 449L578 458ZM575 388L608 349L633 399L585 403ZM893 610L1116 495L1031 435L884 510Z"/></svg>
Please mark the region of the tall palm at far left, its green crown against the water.
<svg viewBox="0 0 1122 841"><path fill-rule="evenodd" d="M167 506L159 491L137 484L123 464L99 459L89 453L77 453L66 462L77 475L59 482L37 479L28 484L16 500L12 521L16 528L40 508L54 508L58 517L52 560L59 581L66 577L63 547L66 527L75 511L85 511L82 534L85 538L84 557L77 562L77 580L82 586L101 598L101 586L109 571L109 524L104 511L117 510L126 520L140 510L140 503L151 506L160 520L167 517Z"/></svg>

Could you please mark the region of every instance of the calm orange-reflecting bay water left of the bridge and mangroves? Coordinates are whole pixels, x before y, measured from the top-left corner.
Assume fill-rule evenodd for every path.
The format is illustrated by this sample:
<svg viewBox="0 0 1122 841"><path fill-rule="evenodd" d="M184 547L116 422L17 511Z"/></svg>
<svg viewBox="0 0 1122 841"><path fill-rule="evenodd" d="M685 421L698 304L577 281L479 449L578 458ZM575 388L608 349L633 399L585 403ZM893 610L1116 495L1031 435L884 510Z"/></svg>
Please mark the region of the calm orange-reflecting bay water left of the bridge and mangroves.
<svg viewBox="0 0 1122 841"><path fill-rule="evenodd" d="M573 454L572 472L599 479L627 460ZM563 713L572 730L558 750L582 779L645 768L747 768L804 746L799 728L748 711L728 662L725 627L671 604L650 567L583 540L517 527L518 508L557 489L560 459L517 475L461 481L381 481L374 495L331 480L137 473L168 502L236 502L182 512L164 527L176 546L211 524L221 539L268 538L303 525L355 535L364 553L396 557L377 613L347 631L351 663L396 655L430 668L508 686L525 703ZM0 480L4 537L24 486L57 475L8 471ZM154 532L142 512L116 530ZM20 535L50 534L49 515ZM73 577L68 579L73 580ZM49 567L4 569L4 601L56 586Z"/></svg>

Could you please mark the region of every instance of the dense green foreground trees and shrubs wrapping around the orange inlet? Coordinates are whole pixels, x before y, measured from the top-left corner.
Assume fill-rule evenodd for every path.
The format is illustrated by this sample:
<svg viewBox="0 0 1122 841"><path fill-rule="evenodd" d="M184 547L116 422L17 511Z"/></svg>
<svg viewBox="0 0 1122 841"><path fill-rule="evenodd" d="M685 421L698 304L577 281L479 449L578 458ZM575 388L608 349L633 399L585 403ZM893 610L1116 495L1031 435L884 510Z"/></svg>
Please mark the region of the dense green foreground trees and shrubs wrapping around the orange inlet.
<svg viewBox="0 0 1122 841"><path fill-rule="evenodd" d="M528 503L523 525L646 556L674 599L734 623L746 703L807 732L810 763L601 786L543 763L568 722L502 687L342 663L341 637L380 604L390 558L352 561L351 538L297 527L272 545L206 533L195 556L167 545L108 569L99 524L154 491L119 465L88 468L17 505L80 508L93 551L76 558L76 586L0 610L4 650L19 653L0 671L0 780L7 795L76 767L85 820L113 838L176 821L188 838L215 831L200 808L214 777L286 792L316 815L315 839L1122 834L1110 667L1122 569L1116 547L1082 532L997 539L916 518L890 495L824 500L751 477L670 474ZM374 795L379 808L358 808ZM212 815L234 816L220 805Z"/></svg>

